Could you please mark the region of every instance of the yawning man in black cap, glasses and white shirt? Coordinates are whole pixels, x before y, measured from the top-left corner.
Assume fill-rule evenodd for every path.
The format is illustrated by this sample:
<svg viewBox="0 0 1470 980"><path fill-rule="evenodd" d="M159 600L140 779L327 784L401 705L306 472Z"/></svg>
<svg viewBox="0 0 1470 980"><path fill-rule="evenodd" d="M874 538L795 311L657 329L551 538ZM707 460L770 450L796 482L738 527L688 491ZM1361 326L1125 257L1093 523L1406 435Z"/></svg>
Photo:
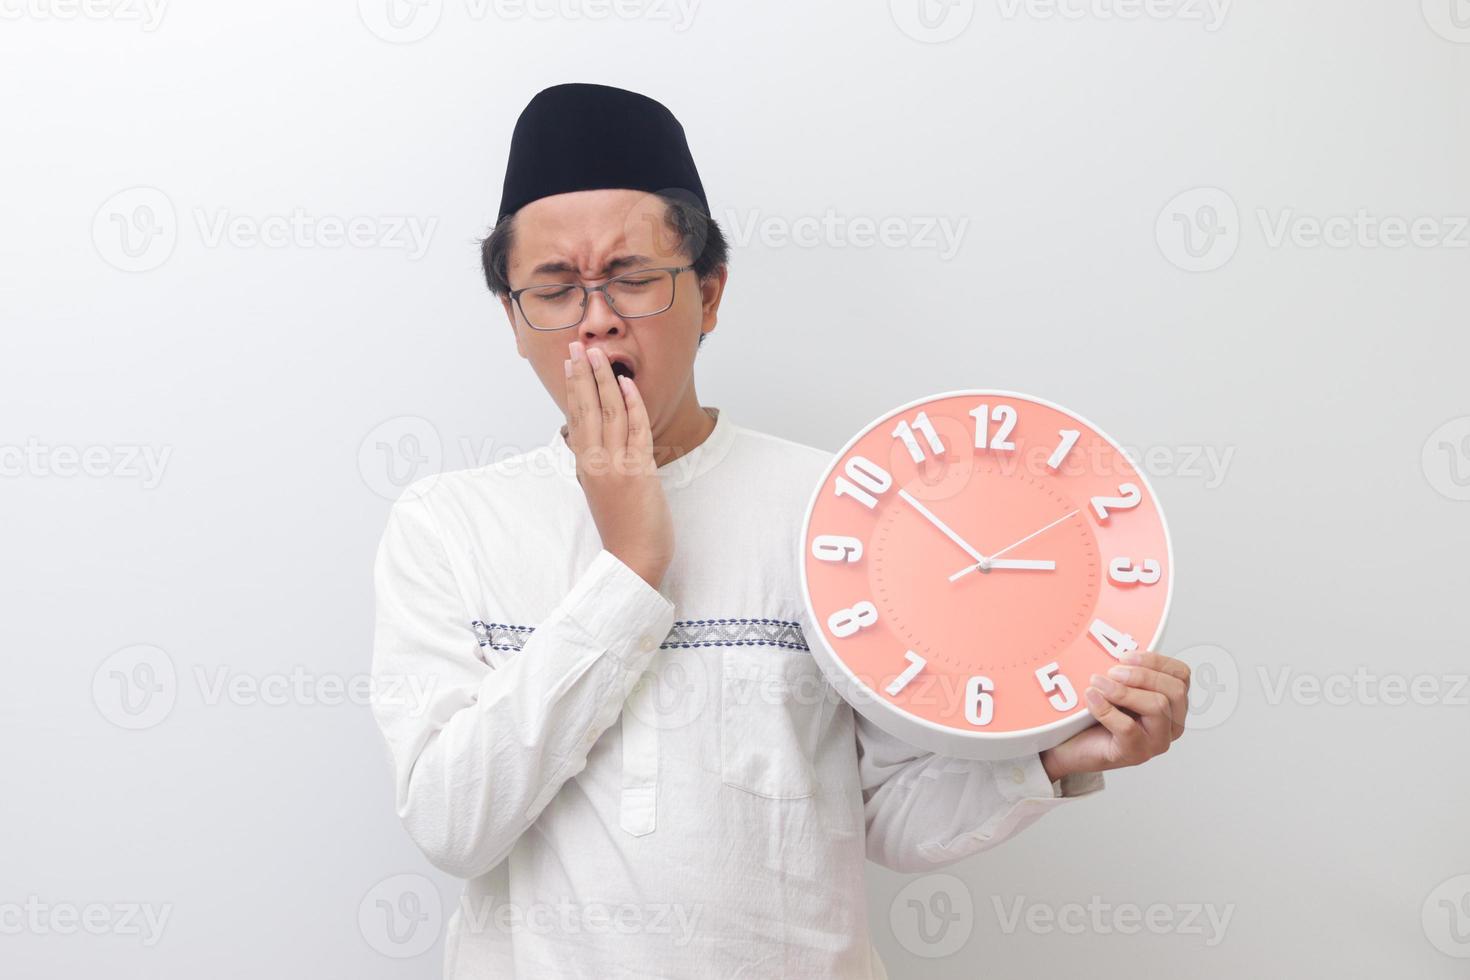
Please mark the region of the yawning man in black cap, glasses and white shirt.
<svg viewBox="0 0 1470 980"><path fill-rule="evenodd" d="M1182 733L1157 654L1094 677L1101 726L1005 763L822 683L794 542L831 454L700 404L726 247L662 104L532 98L484 264L564 425L410 486L376 564L373 671L432 685L373 705L398 815L467 879L447 976L886 977L864 860L951 864Z"/></svg>

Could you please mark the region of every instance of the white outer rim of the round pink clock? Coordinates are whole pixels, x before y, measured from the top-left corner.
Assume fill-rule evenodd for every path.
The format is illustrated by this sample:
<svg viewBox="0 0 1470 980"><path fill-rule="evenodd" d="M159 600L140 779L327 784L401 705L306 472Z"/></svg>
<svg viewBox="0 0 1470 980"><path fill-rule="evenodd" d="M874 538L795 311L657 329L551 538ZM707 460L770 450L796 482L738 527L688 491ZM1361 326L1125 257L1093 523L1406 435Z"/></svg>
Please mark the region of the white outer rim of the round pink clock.
<svg viewBox="0 0 1470 980"><path fill-rule="evenodd" d="M839 685L839 693L848 705L861 711L863 717L886 730L889 735L910 742L917 748L954 755L957 758L1001 760L1030 752L1041 752L1060 745L1078 732L1095 724L1097 718L1094 718L1092 713L1086 708L1086 705L1083 705L1080 710L1073 711L1069 716L1030 729L1016 729L1013 732L964 732L961 729L938 724L911 714L894 702L885 701L872 688L858 680L857 674L853 673L853 669L847 666L847 661L838 657L836 651L831 648L826 633L822 629L822 620L817 617L817 611L811 605L811 588L807 583L807 535L811 530L811 514L816 510L817 498L822 495L822 488L826 486L828 479L842 461L842 457L847 455L848 450L857 445L864 435L894 416L931 401L939 401L941 398L958 398L969 395L1020 398L1054 411L1060 411L1070 419L1076 419L1088 429L1102 436L1102 439L1107 441L1107 444L1111 445L1119 455L1127 460L1129 466L1138 475L1138 479L1144 482L1144 489L1148 491L1150 500L1154 501L1154 513L1158 514L1158 525L1164 530L1164 554L1169 566L1164 580L1164 608L1158 614L1158 627L1154 630L1152 639L1150 639L1145 646L1145 649L1150 651L1157 649L1158 641L1164 636L1164 626L1169 623L1169 610L1175 598L1175 545L1173 538L1169 533L1169 519L1164 516L1164 505L1160 501L1158 494L1154 491L1154 485L1148 480L1148 475L1144 473L1144 470L1141 470L1126 453L1123 453L1123 447L1120 447L1105 429L1095 425L1086 416L1078 414L1072 408L1060 406L1048 398L1039 398L1022 391L1010 391L1005 388L956 388L906 401L895 408L883 411L872 422L861 426L857 433L842 444L842 448L832 455L832 461L825 470L822 470L822 479L819 479L816 486L811 488L811 497L807 500L806 514L801 517L801 536L797 541L797 569L801 574L801 602L806 605L807 619L811 621L811 629L816 633L817 641L816 645L808 642L807 648L811 651L813 657L816 657L817 664L828 676L828 680L835 680L838 677L842 680L842 685ZM838 677L833 677L833 669L836 669ZM853 692L857 692L860 696L854 699ZM864 710L863 704L879 704L882 708Z"/></svg>

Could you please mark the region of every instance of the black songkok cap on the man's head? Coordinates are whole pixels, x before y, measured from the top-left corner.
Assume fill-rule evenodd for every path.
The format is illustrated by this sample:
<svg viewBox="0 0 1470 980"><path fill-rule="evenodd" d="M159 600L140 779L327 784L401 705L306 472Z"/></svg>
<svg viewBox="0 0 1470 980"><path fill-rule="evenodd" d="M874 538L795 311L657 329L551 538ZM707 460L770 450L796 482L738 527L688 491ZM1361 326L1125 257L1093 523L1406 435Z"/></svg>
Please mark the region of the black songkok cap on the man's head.
<svg viewBox="0 0 1470 980"><path fill-rule="evenodd" d="M710 213L684 126L663 103L585 82L541 90L510 137L500 217L541 197L598 188L663 192Z"/></svg>

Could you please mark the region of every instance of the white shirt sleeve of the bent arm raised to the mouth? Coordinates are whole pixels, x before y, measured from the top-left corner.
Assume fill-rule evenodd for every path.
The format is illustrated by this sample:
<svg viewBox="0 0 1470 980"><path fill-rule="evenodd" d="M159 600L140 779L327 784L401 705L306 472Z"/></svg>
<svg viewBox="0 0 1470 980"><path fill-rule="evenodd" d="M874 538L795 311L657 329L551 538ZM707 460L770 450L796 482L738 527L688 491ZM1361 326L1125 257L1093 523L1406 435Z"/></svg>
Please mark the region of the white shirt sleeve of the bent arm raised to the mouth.
<svg viewBox="0 0 1470 980"><path fill-rule="evenodd" d="M507 554L500 574L514 574ZM501 666L479 655L473 614L426 500L394 504L373 570L373 717L395 808L438 868L478 877L510 852L598 736L673 627L673 602L607 550Z"/></svg>

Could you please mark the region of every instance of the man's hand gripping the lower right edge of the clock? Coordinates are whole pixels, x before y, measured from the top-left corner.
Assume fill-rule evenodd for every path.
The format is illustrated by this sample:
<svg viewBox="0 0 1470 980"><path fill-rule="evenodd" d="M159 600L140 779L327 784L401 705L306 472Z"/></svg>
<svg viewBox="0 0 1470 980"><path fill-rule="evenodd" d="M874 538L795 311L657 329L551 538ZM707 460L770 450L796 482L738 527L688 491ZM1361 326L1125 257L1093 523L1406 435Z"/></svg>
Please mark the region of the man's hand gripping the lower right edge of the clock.
<svg viewBox="0 0 1470 980"><path fill-rule="evenodd" d="M1136 649L1119 660L1083 692L1100 724L1041 754L1050 779L1147 763L1185 733L1189 664Z"/></svg>

